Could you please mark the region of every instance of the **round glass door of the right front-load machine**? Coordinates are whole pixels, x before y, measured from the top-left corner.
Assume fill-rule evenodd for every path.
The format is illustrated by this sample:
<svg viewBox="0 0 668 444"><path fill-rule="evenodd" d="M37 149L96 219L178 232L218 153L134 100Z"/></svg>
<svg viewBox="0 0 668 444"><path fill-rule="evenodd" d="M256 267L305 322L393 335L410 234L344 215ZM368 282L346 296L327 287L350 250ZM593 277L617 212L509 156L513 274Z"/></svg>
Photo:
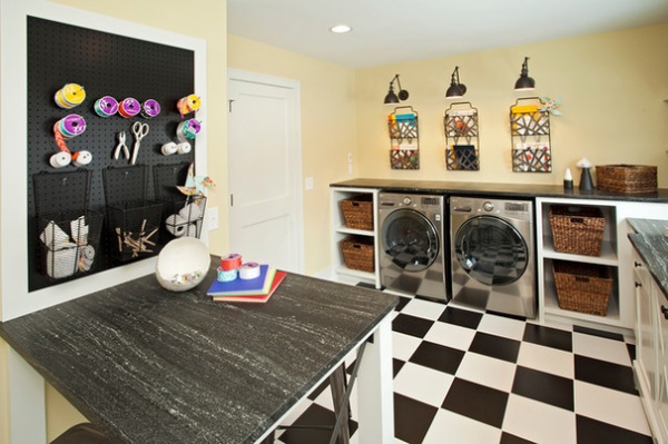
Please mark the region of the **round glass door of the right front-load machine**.
<svg viewBox="0 0 668 444"><path fill-rule="evenodd" d="M507 285L518 280L529 262L527 243L503 219L478 216L456 231L454 253L458 263L473 279L485 285Z"/></svg>

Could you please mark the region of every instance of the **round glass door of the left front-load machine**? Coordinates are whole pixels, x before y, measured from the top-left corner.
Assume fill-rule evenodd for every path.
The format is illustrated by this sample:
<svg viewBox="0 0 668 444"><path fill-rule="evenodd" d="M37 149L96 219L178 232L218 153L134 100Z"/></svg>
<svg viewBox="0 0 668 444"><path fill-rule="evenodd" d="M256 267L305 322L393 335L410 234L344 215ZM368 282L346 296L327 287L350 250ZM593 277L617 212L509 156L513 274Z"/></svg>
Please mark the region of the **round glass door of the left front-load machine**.
<svg viewBox="0 0 668 444"><path fill-rule="evenodd" d="M382 228L383 250L406 272L429 268L439 255L439 235L421 213L397 209L387 216Z"/></svg>

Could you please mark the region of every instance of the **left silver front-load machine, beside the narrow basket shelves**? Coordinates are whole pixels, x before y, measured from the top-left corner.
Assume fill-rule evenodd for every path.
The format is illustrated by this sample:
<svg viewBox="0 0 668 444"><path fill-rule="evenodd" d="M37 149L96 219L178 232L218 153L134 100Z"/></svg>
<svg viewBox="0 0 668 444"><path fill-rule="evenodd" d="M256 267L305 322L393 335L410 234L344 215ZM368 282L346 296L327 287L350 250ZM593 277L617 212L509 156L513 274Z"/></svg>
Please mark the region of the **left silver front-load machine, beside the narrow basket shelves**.
<svg viewBox="0 0 668 444"><path fill-rule="evenodd" d="M443 196L379 194L383 287L446 300L443 203Z"/></svg>

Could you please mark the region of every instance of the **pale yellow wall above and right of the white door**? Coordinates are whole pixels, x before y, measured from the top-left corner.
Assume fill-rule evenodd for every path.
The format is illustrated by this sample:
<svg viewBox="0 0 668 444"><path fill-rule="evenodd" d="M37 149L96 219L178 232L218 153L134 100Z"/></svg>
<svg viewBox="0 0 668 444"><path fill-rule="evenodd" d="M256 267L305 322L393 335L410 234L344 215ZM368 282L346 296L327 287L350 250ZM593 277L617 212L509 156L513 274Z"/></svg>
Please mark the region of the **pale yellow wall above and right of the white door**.
<svg viewBox="0 0 668 444"><path fill-rule="evenodd" d="M305 272L322 272L331 262L330 184L354 177L347 152L355 154L355 72L236 36L227 51L229 68L299 81L302 176L315 185L304 191Z"/></svg>

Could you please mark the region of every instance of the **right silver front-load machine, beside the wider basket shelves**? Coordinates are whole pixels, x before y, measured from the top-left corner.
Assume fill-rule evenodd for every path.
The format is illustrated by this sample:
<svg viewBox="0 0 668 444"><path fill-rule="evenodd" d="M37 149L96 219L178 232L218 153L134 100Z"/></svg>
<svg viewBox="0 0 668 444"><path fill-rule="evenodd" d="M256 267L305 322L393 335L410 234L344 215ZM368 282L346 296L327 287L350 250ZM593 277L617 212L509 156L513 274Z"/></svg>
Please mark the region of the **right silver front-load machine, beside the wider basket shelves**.
<svg viewBox="0 0 668 444"><path fill-rule="evenodd" d="M533 203L450 198L452 300L536 317Z"/></svg>

